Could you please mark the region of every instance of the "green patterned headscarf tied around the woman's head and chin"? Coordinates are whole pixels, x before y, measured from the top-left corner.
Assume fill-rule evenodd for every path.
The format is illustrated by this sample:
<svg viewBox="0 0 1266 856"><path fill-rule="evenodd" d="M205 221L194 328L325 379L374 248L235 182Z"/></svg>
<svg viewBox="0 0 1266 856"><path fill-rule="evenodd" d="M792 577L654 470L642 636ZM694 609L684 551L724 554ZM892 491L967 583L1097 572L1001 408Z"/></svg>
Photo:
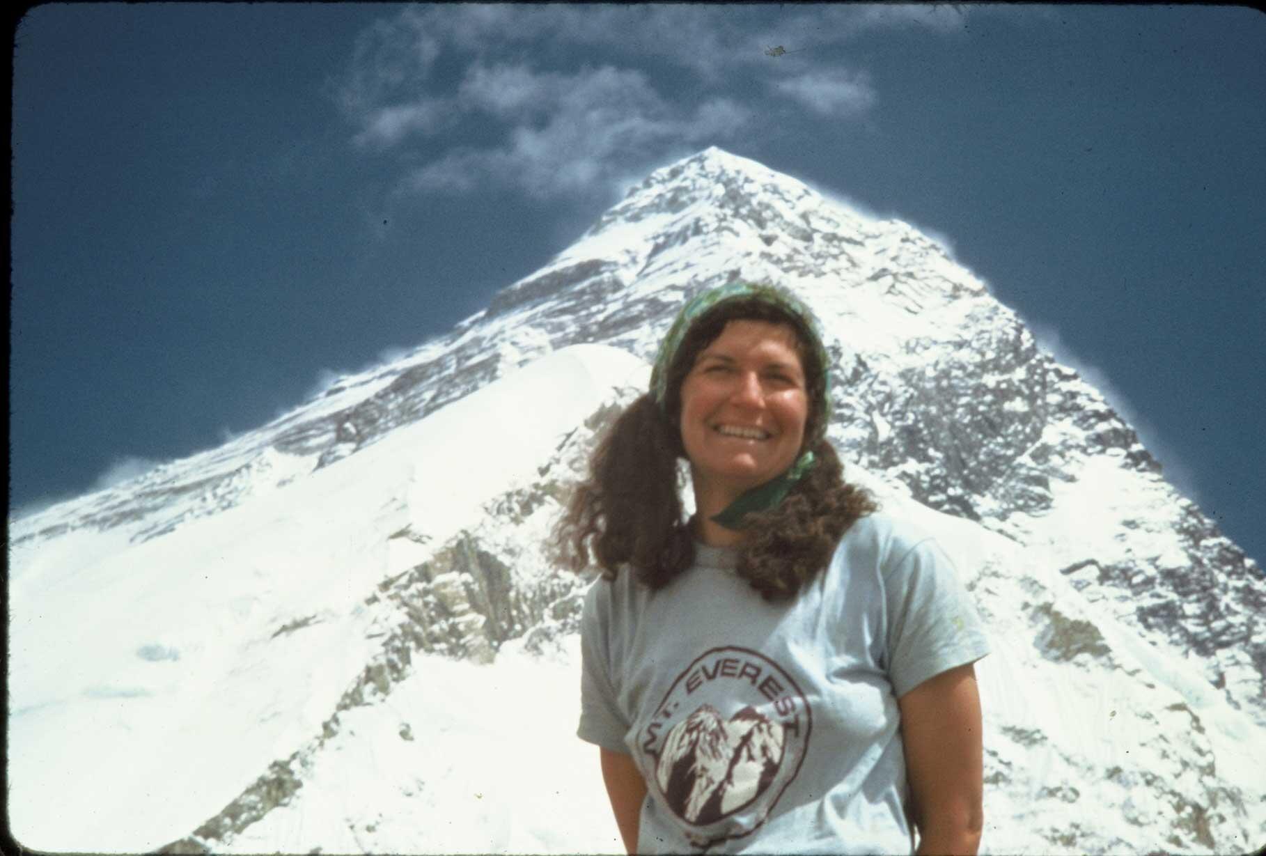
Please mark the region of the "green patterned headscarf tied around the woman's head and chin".
<svg viewBox="0 0 1266 856"><path fill-rule="evenodd" d="M695 295L694 299L686 303L686 305L681 308L681 312L677 313L677 318L672 322L668 334L660 344L660 351L655 358L655 367L651 371L651 393L655 396L656 404L660 405L660 409L662 410L667 406L668 372L677 357L681 342L686 338L686 333L691 327L694 327L695 322L706 315L710 310L715 309L727 300L737 299L756 299L768 303L804 322L804 327L810 333L809 342L805 344L814 349L818 365L820 365L823 372L825 372L822 394L817 398L817 400L812 401L812 405L818 409L818 413L829 413L830 358L827 355L825 347L822 344L822 327L818 323L817 317L813 314L813 310L810 310L790 291L780 289L775 285L757 285L753 282L730 282L728 285L711 289L710 291L704 291ZM818 422L817 436L806 438L810 444L822 438L825 432L825 418ZM786 499L787 493L795 482L798 482L804 474L813 467L813 452L805 452L786 470L786 472L776 479L766 481L763 485L752 488L711 519L727 529L739 529L739 522L744 514L777 508L777 505Z"/></svg>

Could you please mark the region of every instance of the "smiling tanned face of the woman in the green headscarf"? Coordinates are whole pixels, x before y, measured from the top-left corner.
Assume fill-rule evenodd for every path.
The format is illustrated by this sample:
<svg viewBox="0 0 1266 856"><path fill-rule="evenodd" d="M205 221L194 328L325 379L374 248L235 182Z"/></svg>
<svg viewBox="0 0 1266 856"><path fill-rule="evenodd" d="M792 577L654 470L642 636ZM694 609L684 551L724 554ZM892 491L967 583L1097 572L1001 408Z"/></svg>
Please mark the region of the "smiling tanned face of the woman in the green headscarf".
<svg viewBox="0 0 1266 856"><path fill-rule="evenodd" d="M727 501L790 467L809 395L795 330L732 320L681 382L681 443L695 490Z"/></svg>

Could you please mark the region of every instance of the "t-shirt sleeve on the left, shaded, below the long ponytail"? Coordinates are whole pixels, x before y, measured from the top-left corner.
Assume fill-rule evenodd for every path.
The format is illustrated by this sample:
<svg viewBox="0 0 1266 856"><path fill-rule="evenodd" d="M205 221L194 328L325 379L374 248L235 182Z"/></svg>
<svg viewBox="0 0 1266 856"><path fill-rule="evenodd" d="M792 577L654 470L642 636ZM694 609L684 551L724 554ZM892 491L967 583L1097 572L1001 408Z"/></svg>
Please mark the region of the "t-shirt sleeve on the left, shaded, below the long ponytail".
<svg viewBox="0 0 1266 856"><path fill-rule="evenodd" d="M603 591L600 586L605 586ZM610 613L611 584L599 579L585 595L580 624L580 727L576 734L614 752L628 752L624 734L628 719L620 712L611 681ZM605 595L605 596L603 596Z"/></svg>

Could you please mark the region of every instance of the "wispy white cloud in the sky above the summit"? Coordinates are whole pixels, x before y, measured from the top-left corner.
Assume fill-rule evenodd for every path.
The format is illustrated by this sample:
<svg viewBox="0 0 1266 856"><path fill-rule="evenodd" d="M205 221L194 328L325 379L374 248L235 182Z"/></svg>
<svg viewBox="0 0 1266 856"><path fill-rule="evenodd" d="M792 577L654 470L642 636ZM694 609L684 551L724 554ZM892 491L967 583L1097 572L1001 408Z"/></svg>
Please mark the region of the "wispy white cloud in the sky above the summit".
<svg viewBox="0 0 1266 856"><path fill-rule="evenodd" d="M879 92L832 48L948 20L923 8L408 6L358 35L333 92L353 147L396 158L398 192L605 195L685 147L862 120Z"/></svg>

